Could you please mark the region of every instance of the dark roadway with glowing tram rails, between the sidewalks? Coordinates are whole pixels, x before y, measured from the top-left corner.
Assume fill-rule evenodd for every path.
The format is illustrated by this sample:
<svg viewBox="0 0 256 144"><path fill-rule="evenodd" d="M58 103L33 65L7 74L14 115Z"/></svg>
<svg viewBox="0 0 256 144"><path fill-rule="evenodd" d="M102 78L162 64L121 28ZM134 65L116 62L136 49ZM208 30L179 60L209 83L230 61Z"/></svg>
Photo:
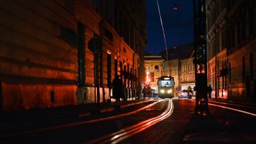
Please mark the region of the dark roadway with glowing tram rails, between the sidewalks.
<svg viewBox="0 0 256 144"><path fill-rule="evenodd" d="M55 126L40 129L35 129L34 125L14 135L2 133L0 142L253 143L256 141L256 115L253 113L255 107L216 102L211 105L212 103L209 102L209 113L200 115L194 112L193 99L154 99L102 115L62 118L62 122L66 121L66 124L62 125L55 123Z"/></svg>

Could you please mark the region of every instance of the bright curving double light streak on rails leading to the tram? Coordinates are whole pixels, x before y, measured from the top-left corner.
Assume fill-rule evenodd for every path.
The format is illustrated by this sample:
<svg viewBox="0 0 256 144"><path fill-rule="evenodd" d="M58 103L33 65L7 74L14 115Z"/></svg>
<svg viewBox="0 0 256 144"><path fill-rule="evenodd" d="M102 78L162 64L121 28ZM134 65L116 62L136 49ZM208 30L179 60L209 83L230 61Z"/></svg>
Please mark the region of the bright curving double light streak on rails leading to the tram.
<svg viewBox="0 0 256 144"><path fill-rule="evenodd" d="M148 120L144 120L142 122L139 122L138 124L134 124L133 126L129 126L127 128L124 128L123 130L119 130L118 132L115 132L113 134L104 135L103 137L99 137L98 139L93 139L92 141L89 141L87 143L119 143L120 141L123 141L132 135L138 134L139 132L142 132L143 130L146 130L150 126L153 126L154 124L157 124L161 120L164 120L165 118L169 117L173 113L173 101L171 99L169 100L169 104L165 112L161 113L161 115L150 118Z"/></svg>

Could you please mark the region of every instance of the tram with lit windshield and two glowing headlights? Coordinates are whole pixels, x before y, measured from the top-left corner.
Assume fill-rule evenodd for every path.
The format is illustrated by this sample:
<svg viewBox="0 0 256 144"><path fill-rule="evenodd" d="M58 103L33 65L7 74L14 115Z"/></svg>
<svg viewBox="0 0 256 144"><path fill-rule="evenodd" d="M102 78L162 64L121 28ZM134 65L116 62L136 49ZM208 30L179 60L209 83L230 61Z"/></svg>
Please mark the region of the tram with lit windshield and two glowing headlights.
<svg viewBox="0 0 256 144"><path fill-rule="evenodd" d="M161 76L158 78L158 97L173 98L174 97L174 78L171 76Z"/></svg>

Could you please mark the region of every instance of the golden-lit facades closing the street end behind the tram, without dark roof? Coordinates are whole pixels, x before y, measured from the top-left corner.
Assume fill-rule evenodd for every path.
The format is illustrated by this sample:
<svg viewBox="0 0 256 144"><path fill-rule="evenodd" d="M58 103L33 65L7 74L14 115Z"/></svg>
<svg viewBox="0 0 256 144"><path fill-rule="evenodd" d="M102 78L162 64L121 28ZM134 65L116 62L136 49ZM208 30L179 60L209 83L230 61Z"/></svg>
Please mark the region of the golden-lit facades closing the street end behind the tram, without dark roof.
<svg viewBox="0 0 256 144"><path fill-rule="evenodd" d="M194 88L194 64L191 58L173 59L165 61L162 56L144 56L145 73L151 88L158 91L158 78L162 75L171 76L175 81L175 90L186 90L188 86ZM152 74L154 73L154 74Z"/></svg>

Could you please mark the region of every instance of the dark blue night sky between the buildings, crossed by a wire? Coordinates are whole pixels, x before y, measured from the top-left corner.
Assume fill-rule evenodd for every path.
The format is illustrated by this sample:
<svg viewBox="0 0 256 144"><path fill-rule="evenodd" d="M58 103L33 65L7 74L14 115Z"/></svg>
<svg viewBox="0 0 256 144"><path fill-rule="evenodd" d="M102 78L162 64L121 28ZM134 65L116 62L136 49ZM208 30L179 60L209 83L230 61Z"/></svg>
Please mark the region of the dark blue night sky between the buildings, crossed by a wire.
<svg viewBox="0 0 256 144"><path fill-rule="evenodd" d="M193 39L193 1L192 0L158 0L167 48L194 41ZM173 6L179 9L173 10ZM156 0L147 0L148 45L145 50L157 55L165 50L163 31L161 29L158 4Z"/></svg>

